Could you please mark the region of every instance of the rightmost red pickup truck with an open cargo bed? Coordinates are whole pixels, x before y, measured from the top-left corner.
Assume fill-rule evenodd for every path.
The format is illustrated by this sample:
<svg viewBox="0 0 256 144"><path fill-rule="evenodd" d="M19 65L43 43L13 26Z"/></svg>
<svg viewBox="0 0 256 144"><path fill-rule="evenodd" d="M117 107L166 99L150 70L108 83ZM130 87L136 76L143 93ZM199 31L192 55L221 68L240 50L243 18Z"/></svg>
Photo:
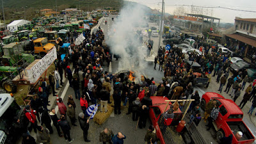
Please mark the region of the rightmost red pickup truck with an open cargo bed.
<svg viewBox="0 0 256 144"><path fill-rule="evenodd" d="M220 105L220 113L218 118L214 121L214 128L217 131L217 140L232 134L232 143L253 143L255 138L246 124L244 124L243 111L241 111L236 103L233 100L225 99L218 93L207 92L202 96L200 107L204 110L206 104L210 100L216 100ZM243 132L243 138L241 138L239 141L235 137L237 131Z"/></svg>

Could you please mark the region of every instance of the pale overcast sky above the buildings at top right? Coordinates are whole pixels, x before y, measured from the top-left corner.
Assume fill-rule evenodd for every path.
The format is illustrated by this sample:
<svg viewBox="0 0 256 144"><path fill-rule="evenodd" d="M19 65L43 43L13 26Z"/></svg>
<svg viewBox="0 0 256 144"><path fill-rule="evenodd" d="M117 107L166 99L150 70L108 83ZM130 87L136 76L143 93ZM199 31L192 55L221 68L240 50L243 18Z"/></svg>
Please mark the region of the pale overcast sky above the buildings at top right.
<svg viewBox="0 0 256 144"><path fill-rule="evenodd" d="M161 0L129 0L140 4L145 4L150 8L156 8L161 11ZM220 22L234 23L235 17L241 18L256 18L256 0L165 0L165 12L173 14L175 8L180 5L194 5L194 6L222 6L226 8L233 8L237 10L251 10L255 12L241 12L235 10L226 10L221 8L204 8L204 15L218 17ZM184 6L188 13L191 13L191 6ZM194 9L195 10L195 9ZM199 10L198 8L196 10Z"/></svg>

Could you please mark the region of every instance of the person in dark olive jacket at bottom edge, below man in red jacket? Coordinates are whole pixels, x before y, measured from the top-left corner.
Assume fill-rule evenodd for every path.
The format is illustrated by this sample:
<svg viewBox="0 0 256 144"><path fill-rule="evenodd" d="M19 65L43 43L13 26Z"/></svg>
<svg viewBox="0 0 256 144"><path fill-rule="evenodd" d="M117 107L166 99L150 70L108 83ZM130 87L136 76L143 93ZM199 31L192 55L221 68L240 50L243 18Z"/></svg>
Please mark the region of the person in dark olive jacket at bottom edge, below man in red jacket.
<svg viewBox="0 0 256 144"><path fill-rule="evenodd" d="M37 127L37 130L36 141L38 141L38 143L51 144L51 136L49 130L40 126Z"/></svg>

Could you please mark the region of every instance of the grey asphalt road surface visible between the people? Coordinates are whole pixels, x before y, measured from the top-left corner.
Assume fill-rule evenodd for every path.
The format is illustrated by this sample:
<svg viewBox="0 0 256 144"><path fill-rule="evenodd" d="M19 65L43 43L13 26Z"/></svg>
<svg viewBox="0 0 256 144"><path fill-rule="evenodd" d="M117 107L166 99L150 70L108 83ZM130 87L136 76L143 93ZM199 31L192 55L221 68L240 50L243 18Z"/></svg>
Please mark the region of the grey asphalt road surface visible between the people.
<svg viewBox="0 0 256 144"><path fill-rule="evenodd" d="M99 26L101 29L103 29L105 35L106 33L108 33L108 29L110 28L111 24L113 24L111 17L112 16L109 15L109 17L103 17L102 20L101 19L99 20L100 22ZM108 21L107 24L105 24L104 22L105 20ZM156 25L156 24L150 24L150 26L153 26L153 25ZM93 29L93 31L97 31L97 29ZM144 38L144 39L147 40L148 38ZM153 39L154 39L154 45L158 45L158 38L154 37ZM154 51L157 52L157 47L154 47ZM154 70L153 62L148 62L145 65L147 65L147 68L143 70L144 75L149 78L154 77L156 82L161 81L161 78L163 77L163 72L159 71L158 69ZM157 68L158 68L158 65L157 65ZM118 61L113 59L113 62L111 63L111 67L105 66L104 70L109 70L112 73L118 72L117 71ZM218 92L217 90L220 85L217 84L215 81L216 81L216 77L212 77L212 82L209 84L209 88L205 89L205 88L196 87L195 90L198 90L201 97L202 97L202 94L205 92ZM224 97L230 98L227 93L222 93L222 94ZM243 94L244 92L242 92L241 96L237 99L237 104L241 102L241 99L243 98ZM65 97L64 97L65 104L67 104L68 95L74 95L74 90L72 88L69 88L69 84L67 84L67 93L65 93ZM77 104L77 108L76 108L76 117L77 117L78 114L81 112L81 108L79 106L79 100L75 99L75 102ZM253 125L251 121L252 118L250 118L250 116L246 114L248 109L250 109L250 106L251 106L251 104L249 103L250 102L248 102L248 104L246 104L246 106L244 106L243 108L244 122L248 125L248 127L250 127L253 134L255 134L255 125ZM150 124L149 120L147 122L147 126L145 129L137 129L137 131L135 131L136 122L132 121L132 118L131 118L132 115L125 115L125 113L127 113L127 108L124 108L121 111L122 111L121 115L115 115L114 113L112 113L111 116L108 118L108 120L106 120L106 122L102 125L98 125L95 122L93 122L93 120L90 120L90 129L88 131L88 139L91 140L90 143L95 143L95 144L100 143L99 133L100 131L102 131L102 129L104 129L104 127L108 127L112 129L114 134L116 134L117 132L123 132L123 134L127 136L126 140L124 140L125 143L129 143L129 144L144 143L144 136L147 132L147 127ZM202 111L202 115L203 115L203 111ZM70 122L69 118L68 118L68 121ZM203 120L200 122L197 128L207 143L211 143L211 142L217 143L215 140L216 131L214 129L211 129L210 131L206 131L207 127L205 127L205 123ZM51 134L52 143L67 143L64 138L58 137L55 127L53 127L53 129L54 129L54 134ZM74 138L73 143L84 143L83 131L80 129L78 122L77 122L77 127L74 127L74 126L71 127L70 134L71 134L71 138Z"/></svg>

